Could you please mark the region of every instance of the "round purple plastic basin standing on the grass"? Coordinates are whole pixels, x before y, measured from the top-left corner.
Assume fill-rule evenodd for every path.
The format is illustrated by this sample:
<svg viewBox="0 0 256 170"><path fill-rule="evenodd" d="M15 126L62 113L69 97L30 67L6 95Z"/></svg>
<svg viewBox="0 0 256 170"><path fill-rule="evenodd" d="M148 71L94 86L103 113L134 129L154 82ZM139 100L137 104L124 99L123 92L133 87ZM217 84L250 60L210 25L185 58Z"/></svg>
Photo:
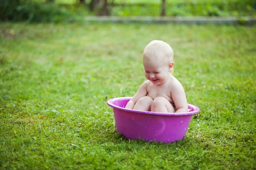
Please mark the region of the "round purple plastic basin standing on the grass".
<svg viewBox="0 0 256 170"><path fill-rule="evenodd" d="M107 104L113 108L118 133L126 139L144 139L163 143L173 143L183 139L192 115L200 110L188 104L186 113L157 113L125 108L131 97L109 99Z"/></svg>

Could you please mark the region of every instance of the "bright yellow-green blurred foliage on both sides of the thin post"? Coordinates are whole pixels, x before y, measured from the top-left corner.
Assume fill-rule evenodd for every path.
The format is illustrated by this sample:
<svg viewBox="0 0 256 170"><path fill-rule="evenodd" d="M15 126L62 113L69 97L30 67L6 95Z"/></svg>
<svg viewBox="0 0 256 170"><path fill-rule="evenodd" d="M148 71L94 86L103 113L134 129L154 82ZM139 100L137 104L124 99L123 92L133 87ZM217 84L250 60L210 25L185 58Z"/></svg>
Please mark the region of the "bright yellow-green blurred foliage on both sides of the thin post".
<svg viewBox="0 0 256 170"><path fill-rule="evenodd" d="M138 15L160 15L160 3L119 3L111 9L112 15L138 16ZM255 0L229 0L229 1L202 1L194 2L167 0L167 16L255 16ZM150 11L150 13L148 13Z"/></svg>

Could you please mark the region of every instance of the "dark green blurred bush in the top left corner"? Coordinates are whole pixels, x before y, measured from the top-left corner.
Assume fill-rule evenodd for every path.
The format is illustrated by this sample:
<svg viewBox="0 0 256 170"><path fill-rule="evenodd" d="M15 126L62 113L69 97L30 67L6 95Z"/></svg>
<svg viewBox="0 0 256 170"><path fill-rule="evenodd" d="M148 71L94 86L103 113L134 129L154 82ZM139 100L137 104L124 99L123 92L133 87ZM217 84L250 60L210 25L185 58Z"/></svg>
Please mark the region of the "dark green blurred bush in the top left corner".
<svg viewBox="0 0 256 170"><path fill-rule="evenodd" d="M70 11L54 3L33 0L1 0L2 21L58 22L70 17Z"/></svg>

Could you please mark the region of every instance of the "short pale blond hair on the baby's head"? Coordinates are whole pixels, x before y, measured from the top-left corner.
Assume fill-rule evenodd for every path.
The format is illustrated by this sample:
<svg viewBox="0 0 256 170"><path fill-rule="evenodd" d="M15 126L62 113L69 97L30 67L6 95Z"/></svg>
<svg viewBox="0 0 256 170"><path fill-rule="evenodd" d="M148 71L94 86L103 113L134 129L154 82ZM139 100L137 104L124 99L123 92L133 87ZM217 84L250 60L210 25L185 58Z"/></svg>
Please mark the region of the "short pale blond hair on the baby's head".
<svg viewBox="0 0 256 170"><path fill-rule="evenodd" d="M164 41L153 40L145 47L143 59L160 59L163 60L163 62L166 62L166 64L170 64L173 62L173 49ZM171 73L173 73L173 68L171 69Z"/></svg>

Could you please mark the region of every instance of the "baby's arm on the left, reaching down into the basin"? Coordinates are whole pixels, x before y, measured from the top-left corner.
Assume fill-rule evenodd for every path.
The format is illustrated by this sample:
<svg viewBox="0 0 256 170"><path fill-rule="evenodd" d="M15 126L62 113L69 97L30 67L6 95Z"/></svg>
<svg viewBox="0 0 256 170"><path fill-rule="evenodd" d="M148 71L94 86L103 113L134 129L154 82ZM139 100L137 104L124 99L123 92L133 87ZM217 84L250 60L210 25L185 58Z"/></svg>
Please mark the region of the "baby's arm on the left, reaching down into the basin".
<svg viewBox="0 0 256 170"><path fill-rule="evenodd" d="M148 95L147 88L146 88L146 82L141 84L139 87L137 93L130 99L130 101L126 104L125 108L133 109L137 101L141 98Z"/></svg>

